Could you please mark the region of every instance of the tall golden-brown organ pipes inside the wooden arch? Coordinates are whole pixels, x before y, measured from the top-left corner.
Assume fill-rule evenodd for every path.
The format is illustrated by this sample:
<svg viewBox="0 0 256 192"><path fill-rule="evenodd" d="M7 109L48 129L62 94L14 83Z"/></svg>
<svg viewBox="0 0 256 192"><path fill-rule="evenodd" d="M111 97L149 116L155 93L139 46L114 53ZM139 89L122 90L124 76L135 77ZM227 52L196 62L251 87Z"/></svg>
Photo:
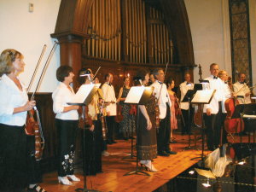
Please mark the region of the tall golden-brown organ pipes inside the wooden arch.
<svg viewBox="0 0 256 192"><path fill-rule="evenodd" d="M143 0L95 0L83 55L108 61L172 63L164 14Z"/></svg>

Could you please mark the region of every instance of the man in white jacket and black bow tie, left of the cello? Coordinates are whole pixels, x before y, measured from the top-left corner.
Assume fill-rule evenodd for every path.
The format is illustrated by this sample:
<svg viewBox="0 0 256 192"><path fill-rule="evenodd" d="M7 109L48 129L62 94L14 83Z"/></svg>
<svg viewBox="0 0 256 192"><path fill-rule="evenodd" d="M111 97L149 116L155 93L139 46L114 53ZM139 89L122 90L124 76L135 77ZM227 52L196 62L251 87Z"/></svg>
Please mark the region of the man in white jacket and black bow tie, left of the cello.
<svg viewBox="0 0 256 192"><path fill-rule="evenodd" d="M207 148L214 150L218 148L220 143L220 127L221 127L221 102L224 99L224 82L218 78L218 64L212 63L210 66L211 75L205 80L208 90L216 90L212 101L204 105L204 120L207 126Z"/></svg>

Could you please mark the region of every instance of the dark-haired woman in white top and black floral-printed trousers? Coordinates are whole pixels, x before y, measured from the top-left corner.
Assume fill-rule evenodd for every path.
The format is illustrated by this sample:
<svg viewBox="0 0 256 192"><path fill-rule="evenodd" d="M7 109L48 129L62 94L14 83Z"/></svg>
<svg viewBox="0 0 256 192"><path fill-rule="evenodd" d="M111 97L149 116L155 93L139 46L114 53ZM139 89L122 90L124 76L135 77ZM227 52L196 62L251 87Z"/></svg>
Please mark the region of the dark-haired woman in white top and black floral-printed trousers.
<svg viewBox="0 0 256 192"><path fill-rule="evenodd" d="M58 180L59 183L67 185L73 184L68 178L72 181L80 181L78 177L73 175L75 137L79 127L79 113L77 111L79 106L67 105L67 102L72 102L75 95L73 88L69 85L73 82L73 77L72 67L59 67L56 78L60 84L52 94L58 137Z"/></svg>

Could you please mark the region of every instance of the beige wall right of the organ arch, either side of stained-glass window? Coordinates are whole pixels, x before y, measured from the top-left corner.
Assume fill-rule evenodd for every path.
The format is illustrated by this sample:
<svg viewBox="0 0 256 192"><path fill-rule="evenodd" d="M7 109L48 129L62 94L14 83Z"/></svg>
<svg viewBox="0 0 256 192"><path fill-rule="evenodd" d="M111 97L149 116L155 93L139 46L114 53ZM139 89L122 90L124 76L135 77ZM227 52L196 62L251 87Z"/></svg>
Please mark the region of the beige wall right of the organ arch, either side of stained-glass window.
<svg viewBox="0 0 256 192"><path fill-rule="evenodd" d="M209 75L209 64L216 62L221 69L231 73L230 22L228 0L184 0L195 54L195 64L201 64L203 75ZM256 73L256 0L249 0L252 66ZM254 54L253 54L254 53ZM194 71L198 82L198 69ZM256 78L253 75L253 83Z"/></svg>

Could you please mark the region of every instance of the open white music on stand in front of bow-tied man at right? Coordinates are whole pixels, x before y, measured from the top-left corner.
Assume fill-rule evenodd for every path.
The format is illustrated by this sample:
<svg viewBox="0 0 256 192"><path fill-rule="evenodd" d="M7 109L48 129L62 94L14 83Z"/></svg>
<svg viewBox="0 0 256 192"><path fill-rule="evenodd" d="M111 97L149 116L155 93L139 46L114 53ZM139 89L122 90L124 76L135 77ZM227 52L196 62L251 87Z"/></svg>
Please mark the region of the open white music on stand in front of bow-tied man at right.
<svg viewBox="0 0 256 192"><path fill-rule="evenodd" d="M192 98L192 104L209 104L216 90L197 90Z"/></svg>

